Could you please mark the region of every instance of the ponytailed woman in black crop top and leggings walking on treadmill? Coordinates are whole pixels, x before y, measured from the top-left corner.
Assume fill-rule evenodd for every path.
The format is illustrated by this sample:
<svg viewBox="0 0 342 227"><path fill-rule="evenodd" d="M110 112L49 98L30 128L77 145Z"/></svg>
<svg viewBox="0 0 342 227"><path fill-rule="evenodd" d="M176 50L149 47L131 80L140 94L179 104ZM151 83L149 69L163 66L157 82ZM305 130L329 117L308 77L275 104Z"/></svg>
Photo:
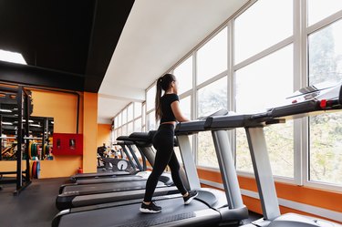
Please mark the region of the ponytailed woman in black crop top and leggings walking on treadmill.
<svg viewBox="0 0 342 227"><path fill-rule="evenodd" d="M161 97L161 89L164 95ZM161 212L161 207L152 201L153 192L156 189L161 173L169 165L174 184L181 192L184 203L189 204L198 195L197 191L187 191L181 181L180 163L173 150L174 126L177 121L189 121L181 114L179 98L177 95L177 81L172 74L165 74L157 80L157 92L155 99L156 120L161 119L161 124L153 138L153 146L157 150L153 170L146 182L145 197L142 201L140 212Z"/></svg>

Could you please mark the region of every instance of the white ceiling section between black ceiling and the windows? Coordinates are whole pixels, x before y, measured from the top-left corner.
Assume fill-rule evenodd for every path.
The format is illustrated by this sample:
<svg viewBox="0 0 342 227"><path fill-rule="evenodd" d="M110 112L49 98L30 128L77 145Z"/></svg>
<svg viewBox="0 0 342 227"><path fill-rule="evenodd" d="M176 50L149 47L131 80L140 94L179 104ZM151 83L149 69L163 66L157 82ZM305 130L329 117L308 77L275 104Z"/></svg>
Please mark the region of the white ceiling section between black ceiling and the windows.
<svg viewBox="0 0 342 227"><path fill-rule="evenodd" d="M98 123L110 120L248 0L135 0L98 91Z"/></svg>

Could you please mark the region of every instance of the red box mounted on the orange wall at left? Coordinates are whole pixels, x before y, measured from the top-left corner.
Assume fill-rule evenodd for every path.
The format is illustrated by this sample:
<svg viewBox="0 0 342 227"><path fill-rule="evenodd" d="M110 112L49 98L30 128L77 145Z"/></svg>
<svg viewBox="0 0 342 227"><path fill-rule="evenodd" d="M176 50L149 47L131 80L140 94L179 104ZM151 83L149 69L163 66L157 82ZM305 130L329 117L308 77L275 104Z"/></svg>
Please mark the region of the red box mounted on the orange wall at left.
<svg viewBox="0 0 342 227"><path fill-rule="evenodd" d="M83 155L83 134L54 133L54 155Z"/></svg>

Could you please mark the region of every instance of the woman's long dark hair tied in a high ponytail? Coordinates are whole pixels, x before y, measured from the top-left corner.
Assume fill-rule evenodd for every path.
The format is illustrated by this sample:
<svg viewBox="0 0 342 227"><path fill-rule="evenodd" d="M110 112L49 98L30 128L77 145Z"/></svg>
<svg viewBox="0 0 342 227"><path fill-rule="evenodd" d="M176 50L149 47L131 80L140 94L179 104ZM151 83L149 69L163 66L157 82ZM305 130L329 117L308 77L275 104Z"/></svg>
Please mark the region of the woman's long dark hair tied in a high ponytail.
<svg viewBox="0 0 342 227"><path fill-rule="evenodd" d="M162 77L157 79L157 88L156 88L156 98L155 98L155 109L156 109L156 120L161 119L162 111L161 111L161 89L166 91L170 88L172 81L176 81L176 77L172 74L168 73Z"/></svg>

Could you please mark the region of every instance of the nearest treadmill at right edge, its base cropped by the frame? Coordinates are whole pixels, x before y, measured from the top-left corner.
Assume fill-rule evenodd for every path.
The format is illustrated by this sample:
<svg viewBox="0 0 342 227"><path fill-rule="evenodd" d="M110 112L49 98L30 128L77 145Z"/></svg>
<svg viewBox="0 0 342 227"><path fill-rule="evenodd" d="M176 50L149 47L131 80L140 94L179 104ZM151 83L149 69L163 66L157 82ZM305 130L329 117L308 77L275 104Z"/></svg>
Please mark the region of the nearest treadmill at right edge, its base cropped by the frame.
<svg viewBox="0 0 342 227"><path fill-rule="evenodd" d="M295 213L280 214L275 181L264 139L264 127L267 125L282 123L285 122L285 119L303 118L342 108L342 84L330 88L318 88L318 86L302 88L290 98L289 104L268 109L264 113L211 117L206 120L205 128L212 130L216 151L222 155L222 149L229 147L229 140L227 136L222 137L221 135L226 135L227 129L245 129L264 218L244 226L342 226L336 222ZM228 167L225 166L225 168Z"/></svg>

